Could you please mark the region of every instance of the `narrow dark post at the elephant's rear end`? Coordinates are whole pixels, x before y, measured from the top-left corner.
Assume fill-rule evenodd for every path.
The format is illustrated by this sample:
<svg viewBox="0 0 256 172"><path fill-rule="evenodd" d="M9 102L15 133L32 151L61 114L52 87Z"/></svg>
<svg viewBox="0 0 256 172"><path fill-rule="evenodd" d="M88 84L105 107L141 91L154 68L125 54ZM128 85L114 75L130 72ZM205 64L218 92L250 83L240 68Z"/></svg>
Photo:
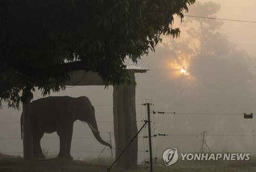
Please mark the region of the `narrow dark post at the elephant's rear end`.
<svg viewBox="0 0 256 172"><path fill-rule="evenodd" d="M31 98L23 102L23 157L33 159L32 110Z"/></svg>

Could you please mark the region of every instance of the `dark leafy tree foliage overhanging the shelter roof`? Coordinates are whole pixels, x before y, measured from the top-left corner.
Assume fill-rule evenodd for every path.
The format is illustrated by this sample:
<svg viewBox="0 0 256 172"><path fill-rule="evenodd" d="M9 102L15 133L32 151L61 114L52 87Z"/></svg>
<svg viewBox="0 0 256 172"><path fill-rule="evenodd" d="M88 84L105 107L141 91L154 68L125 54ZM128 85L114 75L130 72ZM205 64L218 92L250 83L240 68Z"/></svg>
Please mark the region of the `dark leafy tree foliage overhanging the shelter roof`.
<svg viewBox="0 0 256 172"><path fill-rule="evenodd" d="M17 107L35 87L42 95L65 89L75 70L98 72L106 85L129 80L123 59L154 51L161 35L178 37L174 15L182 20L194 3L0 0L0 106Z"/></svg>

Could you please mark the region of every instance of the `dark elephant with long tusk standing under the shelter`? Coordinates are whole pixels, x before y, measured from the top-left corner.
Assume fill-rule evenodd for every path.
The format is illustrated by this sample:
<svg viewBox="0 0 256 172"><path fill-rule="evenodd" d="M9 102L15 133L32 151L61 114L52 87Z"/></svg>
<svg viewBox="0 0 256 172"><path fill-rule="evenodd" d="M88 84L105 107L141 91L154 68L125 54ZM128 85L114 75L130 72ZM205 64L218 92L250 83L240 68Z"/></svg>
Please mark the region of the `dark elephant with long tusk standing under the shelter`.
<svg viewBox="0 0 256 172"><path fill-rule="evenodd" d="M57 132L59 136L59 158L73 159L70 154L73 125L76 120L87 122L99 143L111 144L99 135L95 110L88 97L50 96L31 102L33 128L33 158L45 159L40 146L44 133ZM23 134L23 113L20 118Z"/></svg>

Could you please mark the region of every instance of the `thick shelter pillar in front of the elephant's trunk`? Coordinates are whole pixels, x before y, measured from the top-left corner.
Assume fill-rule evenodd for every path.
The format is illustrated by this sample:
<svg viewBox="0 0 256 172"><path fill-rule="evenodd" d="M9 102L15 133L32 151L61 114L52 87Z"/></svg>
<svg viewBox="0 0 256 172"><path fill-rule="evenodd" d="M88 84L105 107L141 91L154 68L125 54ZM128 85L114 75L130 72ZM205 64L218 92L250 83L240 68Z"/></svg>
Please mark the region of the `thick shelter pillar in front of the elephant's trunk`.
<svg viewBox="0 0 256 172"><path fill-rule="evenodd" d="M134 73L131 73L134 81ZM135 85L119 85L113 91L114 136L116 157L121 154L124 147L129 144L138 132L136 123ZM120 157L116 165L125 169L135 169L138 160L138 138L129 146Z"/></svg>

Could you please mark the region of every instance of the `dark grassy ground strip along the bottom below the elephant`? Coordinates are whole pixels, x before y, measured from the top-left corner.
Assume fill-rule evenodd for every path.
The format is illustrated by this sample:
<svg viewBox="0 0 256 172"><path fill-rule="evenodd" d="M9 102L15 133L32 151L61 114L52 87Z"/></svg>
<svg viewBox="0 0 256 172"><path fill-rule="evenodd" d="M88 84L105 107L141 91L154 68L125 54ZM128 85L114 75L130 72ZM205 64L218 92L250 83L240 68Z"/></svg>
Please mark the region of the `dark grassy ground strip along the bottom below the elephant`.
<svg viewBox="0 0 256 172"><path fill-rule="evenodd" d="M110 161L69 161L69 160L34 160L27 161L23 160L21 157L14 156L6 156L0 154L0 172L69 172L69 171L106 171L106 167ZM159 162L161 163L161 162ZM178 161L176 164L166 167L162 164L154 164L154 171L167 172L167 171L175 171L175 172L190 172L190 171L199 171L199 172L250 172L256 171L256 159L252 158L250 161L240 161L240 162L180 162ZM113 167L111 169L113 172L125 171L120 168ZM145 168L144 165L140 165L137 170L127 170L130 172L144 172L149 171L149 168Z"/></svg>

